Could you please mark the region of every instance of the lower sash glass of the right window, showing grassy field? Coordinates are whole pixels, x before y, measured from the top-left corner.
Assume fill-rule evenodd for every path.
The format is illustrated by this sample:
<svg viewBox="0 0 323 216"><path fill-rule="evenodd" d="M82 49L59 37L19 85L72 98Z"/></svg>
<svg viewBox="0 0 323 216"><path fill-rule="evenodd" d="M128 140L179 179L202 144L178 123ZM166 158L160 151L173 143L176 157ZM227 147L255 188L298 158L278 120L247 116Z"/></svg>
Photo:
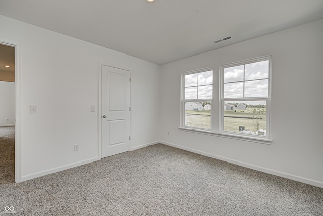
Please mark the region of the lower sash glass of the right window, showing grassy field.
<svg viewBox="0 0 323 216"><path fill-rule="evenodd" d="M266 135L266 101L225 101L224 131Z"/></svg>

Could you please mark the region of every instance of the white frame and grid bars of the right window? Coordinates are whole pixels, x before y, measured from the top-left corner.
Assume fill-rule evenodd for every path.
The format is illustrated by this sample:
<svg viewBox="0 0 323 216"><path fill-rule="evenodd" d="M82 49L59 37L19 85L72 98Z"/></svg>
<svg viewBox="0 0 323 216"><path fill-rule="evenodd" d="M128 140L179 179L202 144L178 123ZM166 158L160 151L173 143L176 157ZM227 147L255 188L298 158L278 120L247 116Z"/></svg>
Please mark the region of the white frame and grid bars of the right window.
<svg viewBox="0 0 323 216"><path fill-rule="evenodd" d="M239 65L246 65L255 62L261 62L269 60L269 74L268 74L268 96L267 97L241 97L241 98L224 98L224 69L228 67L234 67ZM243 80L245 82L245 80ZM226 65L220 66L220 96L219 96L219 133L228 136L235 136L248 139L257 139L263 141L272 141L270 135L270 107L271 107L271 97L272 97L272 57L263 56L254 59L234 62ZM256 134L242 134L237 132L230 132L224 130L224 102L228 101L266 101L266 135L256 135Z"/></svg>

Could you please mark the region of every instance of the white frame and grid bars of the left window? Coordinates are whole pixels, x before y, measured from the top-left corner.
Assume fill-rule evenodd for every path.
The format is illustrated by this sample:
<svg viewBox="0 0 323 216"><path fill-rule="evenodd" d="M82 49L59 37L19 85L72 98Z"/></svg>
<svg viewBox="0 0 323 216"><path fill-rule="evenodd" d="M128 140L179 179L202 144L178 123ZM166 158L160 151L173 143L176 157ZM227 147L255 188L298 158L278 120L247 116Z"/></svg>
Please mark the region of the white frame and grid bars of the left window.
<svg viewBox="0 0 323 216"><path fill-rule="evenodd" d="M189 74L196 74L196 73L202 73L206 71L213 71L212 67L207 67L207 68L202 68L198 70L193 70L193 71L188 71L181 73L181 120L180 120L180 128L182 129L189 129L189 130L199 130L199 131L206 131L210 132L212 130L212 113L211 112L211 122L210 122L210 129L207 128L197 128L197 127L191 127L191 126L185 126L185 102L204 102L204 101L210 101L211 106L213 104L213 98L214 98L214 71L213 71L213 82L212 82L212 87L213 87L213 92L212 92L212 99L185 99L185 75ZM197 85L199 86L199 85Z"/></svg>

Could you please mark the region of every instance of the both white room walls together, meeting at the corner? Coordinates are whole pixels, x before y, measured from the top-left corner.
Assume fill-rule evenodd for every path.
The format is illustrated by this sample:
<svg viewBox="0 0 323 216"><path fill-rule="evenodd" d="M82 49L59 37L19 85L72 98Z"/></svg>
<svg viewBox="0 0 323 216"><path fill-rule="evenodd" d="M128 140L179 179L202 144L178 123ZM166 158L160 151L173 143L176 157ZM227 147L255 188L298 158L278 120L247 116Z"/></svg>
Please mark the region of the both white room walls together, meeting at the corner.
<svg viewBox="0 0 323 216"><path fill-rule="evenodd" d="M98 159L98 113L91 113L90 105L98 105L102 61L132 70L133 149L161 138L323 187L323 115L320 109L306 110L307 104L323 106L323 20L166 64L161 73L158 65L4 16L0 26L0 40L22 47L22 180ZM264 55L273 61L271 145L178 129L181 72L209 66L217 71L221 64ZM29 113L29 105L37 105L37 114ZM76 143L80 151L73 152Z"/></svg>

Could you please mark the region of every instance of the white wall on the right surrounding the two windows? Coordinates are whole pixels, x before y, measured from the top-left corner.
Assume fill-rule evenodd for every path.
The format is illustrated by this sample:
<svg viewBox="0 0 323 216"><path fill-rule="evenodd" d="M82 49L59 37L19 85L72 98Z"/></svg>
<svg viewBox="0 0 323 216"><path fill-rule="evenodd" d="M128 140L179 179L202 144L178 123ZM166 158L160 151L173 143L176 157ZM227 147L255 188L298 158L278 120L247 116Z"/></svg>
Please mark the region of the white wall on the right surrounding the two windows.
<svg viewBox="0 0 323 216"><path fill-rule="evenodd" d="M169 145L323 187L323 20L161 66L161 140ZM211 45L211 44L210 44ZM272 55L271 145L178 129L180 73ZM218 89L217 89L218 91ZM213 104L218 101L214 95ZM173 104L174 109L167 106ZM217 107L212 104L213 107ZM315 104L315 110L308 110ZM170 135L167 136L167 132Z"/></svg>

